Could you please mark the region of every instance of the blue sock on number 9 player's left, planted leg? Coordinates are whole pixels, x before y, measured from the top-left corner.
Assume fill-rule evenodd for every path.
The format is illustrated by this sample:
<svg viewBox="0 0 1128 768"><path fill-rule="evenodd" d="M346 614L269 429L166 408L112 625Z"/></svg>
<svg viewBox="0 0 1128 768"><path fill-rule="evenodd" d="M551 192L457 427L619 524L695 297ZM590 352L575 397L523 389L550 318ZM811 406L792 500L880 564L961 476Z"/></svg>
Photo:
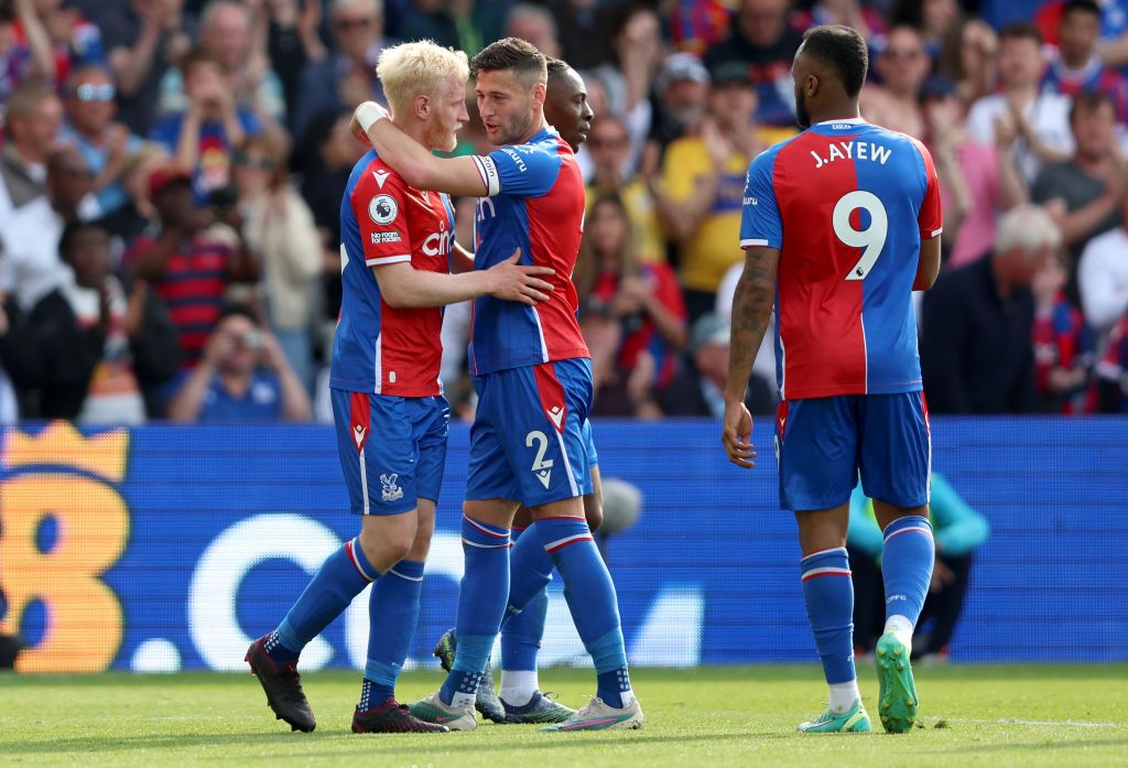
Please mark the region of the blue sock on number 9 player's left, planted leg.
<svg viewBox="0 0 1128 768"><path fill-rule="evenodd" d="M822 672L831 686L854 680L854 584L845 547L823 549L800 562L803 602Z"/></svg>

